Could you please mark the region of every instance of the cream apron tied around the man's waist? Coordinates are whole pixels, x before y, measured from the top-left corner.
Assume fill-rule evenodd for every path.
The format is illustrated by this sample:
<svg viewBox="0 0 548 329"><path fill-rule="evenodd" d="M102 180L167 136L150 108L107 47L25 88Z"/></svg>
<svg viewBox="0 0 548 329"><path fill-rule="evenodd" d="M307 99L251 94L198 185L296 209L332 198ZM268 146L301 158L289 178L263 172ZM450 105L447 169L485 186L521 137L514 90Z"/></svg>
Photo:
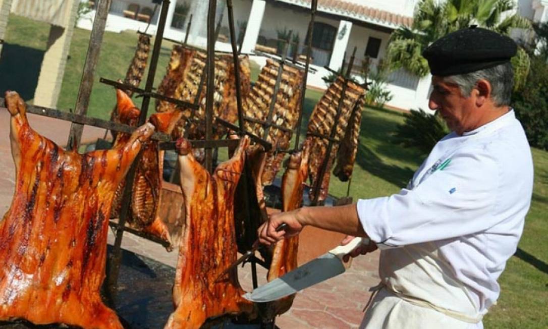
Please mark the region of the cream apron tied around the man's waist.
<svg viewBox="0 0 548 329"><path fill-rule="evenodd" d="M423 169L410 181L409 189L430 177L458 149ZM447 261L439 257L434 243L381 250L379 275L382 281L372 288L373 299L360 328L483 328L485 313L478 313L478 305L455 279Z"/></svg>

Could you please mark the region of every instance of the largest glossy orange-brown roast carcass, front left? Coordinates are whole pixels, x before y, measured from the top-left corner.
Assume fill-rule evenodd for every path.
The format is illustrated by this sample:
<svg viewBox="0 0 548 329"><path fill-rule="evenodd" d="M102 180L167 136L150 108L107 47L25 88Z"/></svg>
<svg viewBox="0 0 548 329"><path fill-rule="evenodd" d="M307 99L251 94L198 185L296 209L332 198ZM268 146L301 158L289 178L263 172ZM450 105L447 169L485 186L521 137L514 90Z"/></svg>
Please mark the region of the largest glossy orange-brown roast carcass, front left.
<svg viewBox="0 0 548 329"><path fill-rule="evenodd" d="M112 150L62 150L29 126L26 106L5 93L15 192L0 223L0 320L122 328L99 290L116 187L154 131L139 127Z"/></svg>

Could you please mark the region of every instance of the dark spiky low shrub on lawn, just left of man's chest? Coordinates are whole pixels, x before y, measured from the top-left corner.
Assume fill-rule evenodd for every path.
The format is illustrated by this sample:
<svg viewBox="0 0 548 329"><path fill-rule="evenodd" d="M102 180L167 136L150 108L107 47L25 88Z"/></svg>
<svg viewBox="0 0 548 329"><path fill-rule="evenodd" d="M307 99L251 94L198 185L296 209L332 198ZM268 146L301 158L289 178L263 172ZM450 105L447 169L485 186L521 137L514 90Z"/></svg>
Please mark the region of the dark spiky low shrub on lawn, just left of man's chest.
<svg viewBox="0 0 548 329"><path fill-rule="evenodd" d="M437 115L427 114L423 109L412 110L403 124L396 127L395 143L416 146L421 151L430 152L438 140L449 133L447 125Z"/></svg>

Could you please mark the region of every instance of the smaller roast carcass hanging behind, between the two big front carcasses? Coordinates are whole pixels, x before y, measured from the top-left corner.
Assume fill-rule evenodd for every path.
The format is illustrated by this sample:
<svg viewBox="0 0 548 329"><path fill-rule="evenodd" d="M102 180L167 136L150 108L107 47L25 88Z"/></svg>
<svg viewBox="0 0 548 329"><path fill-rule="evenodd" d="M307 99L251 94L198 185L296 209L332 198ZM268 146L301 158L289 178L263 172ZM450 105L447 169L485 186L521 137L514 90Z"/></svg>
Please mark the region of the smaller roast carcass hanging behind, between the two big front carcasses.
<svg viewBox="0 0 548 329"><path fill-rule="evenodd" d="M123 123L132 125L139 118L140 110L133 105L132 100L122 90L117 90L118 111L121 114ZM181 118L182 112L170 110L151 115L150 122L156 127L156 131L169 134L172 132L176 122ZM116 137L114 147L124 143L128 134L119 133ZM162 204L162 173L163 173L164 151L158 147L158 141L149 140L142 146L141 157L135 168L135 178L132 186L131 211L127 223L132 228L151 234L159 239L168 242L168 251L172 250L171 237L165 223L159 218L159 211ZM125 188L125 180L116 190L116 212L112 218L119 215L122 195Z"/></svg>

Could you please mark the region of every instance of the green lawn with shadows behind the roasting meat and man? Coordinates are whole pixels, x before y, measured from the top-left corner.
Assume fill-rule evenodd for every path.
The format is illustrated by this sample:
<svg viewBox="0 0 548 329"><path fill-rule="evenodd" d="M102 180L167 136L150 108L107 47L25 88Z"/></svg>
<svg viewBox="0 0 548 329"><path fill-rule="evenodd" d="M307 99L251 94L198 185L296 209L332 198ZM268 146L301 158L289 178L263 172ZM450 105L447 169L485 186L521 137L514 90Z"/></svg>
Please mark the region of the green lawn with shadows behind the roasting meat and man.
<svg viewBox="0 0 548 329"><path fill-rule="evenodd" d="M89 31L76 29L72 41L58 108L74 107L81 78ZM31 100L36 87L40 54L47 41L47 25L10 15L4 50L8 54L0 59L0 92L13 89ZM123 78L132 59L137 41L134 32L106 32L93 86L88 114L108 118L115 104L112 87L98 82L99 77L112 80ZM162 43L161 58L155 77L158 86L165 73L172 44ZM252 65L256 79L259 67ZM144 82L142 83L144 86ZM307 90L304 109L306 118L321 97L315 90ZM136 103L140 105L140 101ZM362 133L356 168L352 177L350 195L377 197L397 192L406 185L424 155L413 148L403 148L391 143L395 127L403 116L387 110L366 109L363 113ZM302 140L302 139L301 139ZM548 152L533 149L535 163L535 189L531 210L518 252L507 263L500 277L502 293L498 305L484 319L486 328L547 328L548 311ZM346 195L347 184L332 179L330 193Z"/></svg>

